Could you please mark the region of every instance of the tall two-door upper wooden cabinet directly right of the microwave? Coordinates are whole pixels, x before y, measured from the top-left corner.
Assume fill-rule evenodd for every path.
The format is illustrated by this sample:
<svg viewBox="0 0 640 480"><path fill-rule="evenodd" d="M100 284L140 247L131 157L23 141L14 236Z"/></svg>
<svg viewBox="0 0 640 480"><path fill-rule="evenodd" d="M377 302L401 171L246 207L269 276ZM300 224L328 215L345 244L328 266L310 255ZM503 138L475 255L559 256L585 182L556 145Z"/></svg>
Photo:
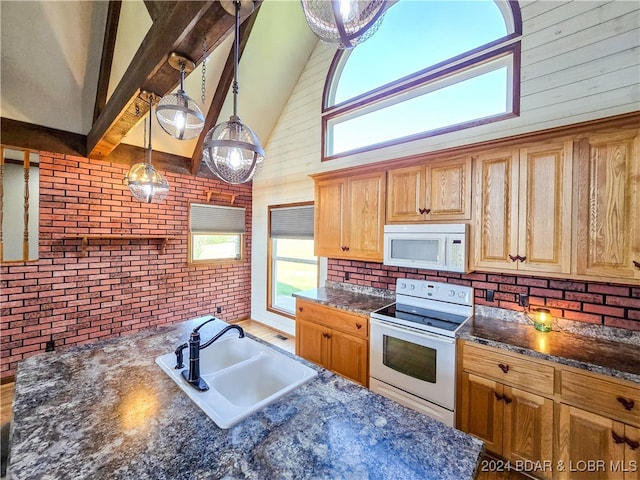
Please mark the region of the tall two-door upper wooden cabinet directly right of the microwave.
<svg viewBox="0 0 640 480"><path fill-rule="evenodd" d="M573 144L475 159L475 268L571 272Z"/></svg>

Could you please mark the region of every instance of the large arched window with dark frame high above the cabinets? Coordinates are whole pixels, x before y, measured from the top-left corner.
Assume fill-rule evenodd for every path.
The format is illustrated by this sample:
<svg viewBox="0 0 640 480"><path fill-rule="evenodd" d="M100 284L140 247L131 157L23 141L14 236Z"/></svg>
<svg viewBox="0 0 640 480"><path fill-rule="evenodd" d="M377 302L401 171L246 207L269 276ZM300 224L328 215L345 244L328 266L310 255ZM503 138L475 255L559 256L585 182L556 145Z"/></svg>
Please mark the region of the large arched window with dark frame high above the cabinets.
<svg viewBox="0 0 640 480"><path fill-rule="evenodd" d="M399 0L338 51L323 98L323 160L519 113L517 2Z"/></svg>

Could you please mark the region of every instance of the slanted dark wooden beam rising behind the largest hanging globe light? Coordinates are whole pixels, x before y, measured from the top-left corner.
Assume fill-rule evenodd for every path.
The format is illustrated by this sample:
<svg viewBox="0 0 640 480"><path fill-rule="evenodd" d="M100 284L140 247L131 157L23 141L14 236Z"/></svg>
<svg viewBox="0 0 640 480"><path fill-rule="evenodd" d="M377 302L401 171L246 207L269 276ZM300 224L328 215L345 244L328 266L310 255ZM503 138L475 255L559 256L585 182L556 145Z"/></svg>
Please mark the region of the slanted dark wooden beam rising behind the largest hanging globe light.
<svg viewBox="0 0 640 480"><path fill-rule="evenodd" d="M253 14L245 19L244 22L242 22L242 25L240 25L238 59L242 58L242 52L244 52L244 48L246 47L249 40L249 35L251 35L251 30L253 29L256 17L258 16L260 5L262 5L262 2L256 3ZM191 158L191 173L193 175L198 175L198 172L200 171L200 166L202 164L202 145L204 144L204 137L207 135L209 130L215 127L218 117L220 116L222 106L224 105L224 101L227 98L227 93L229 92L229 88L231 87L231 83L233 82L234 64L235 52L234 48L231 47L231 51L229 52L227 61L224 64L224 69L222 70L222 75L220 76L220 80L218 81L218 86L213 94L211 105L209 106L209 110L207 111L207 117L204 121L204 128L202 129L202 133L200 133L198 141L196 142L196 147L193 150L193 157Z"/></svg>

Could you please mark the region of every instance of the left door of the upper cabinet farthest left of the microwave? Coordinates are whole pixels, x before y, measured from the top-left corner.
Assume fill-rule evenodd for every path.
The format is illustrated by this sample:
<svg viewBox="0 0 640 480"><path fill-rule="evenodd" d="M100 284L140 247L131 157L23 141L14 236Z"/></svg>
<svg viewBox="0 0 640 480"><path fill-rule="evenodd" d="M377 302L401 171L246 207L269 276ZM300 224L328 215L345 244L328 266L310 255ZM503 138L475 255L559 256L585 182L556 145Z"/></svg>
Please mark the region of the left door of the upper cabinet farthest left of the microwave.
<svg viewBox="0 0 640 480"><path fill-rule="evenodd" d="M345 181L343 179L319 180L315 191L315 254L319 257L336 257L344 254L344 204Z"/></svg>

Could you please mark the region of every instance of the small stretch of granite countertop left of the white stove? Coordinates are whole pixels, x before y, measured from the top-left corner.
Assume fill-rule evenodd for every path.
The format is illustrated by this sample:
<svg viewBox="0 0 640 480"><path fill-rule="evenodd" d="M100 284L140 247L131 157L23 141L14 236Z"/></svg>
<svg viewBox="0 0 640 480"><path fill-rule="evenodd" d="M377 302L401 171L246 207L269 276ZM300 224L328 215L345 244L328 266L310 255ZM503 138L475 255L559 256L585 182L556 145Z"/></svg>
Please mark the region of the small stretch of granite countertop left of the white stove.
<svg viewBox="0 0 640 480"><path fill-rule="evenodd" d="M395 302L395 293L389 290L360 287L348 283L326 282L326 286L293 294L330 307L341 308L366 317L375 310Z"/></svg>

